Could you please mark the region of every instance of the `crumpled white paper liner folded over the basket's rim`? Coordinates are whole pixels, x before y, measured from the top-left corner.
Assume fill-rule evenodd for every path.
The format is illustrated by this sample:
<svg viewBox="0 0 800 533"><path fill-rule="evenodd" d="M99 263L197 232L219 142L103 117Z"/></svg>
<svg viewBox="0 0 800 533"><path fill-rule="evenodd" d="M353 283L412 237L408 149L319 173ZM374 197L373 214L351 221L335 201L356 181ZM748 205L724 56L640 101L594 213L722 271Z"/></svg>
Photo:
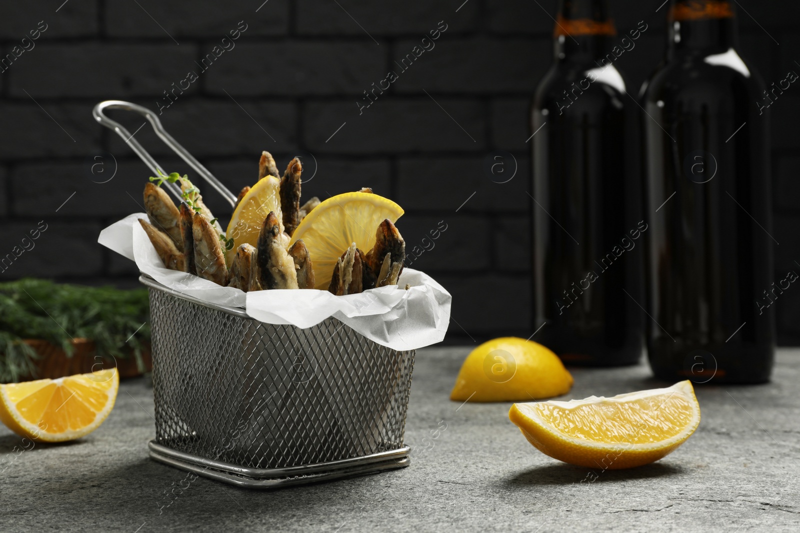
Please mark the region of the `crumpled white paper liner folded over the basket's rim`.
<svg viewBox="0 0 800 533"><path fill-rule="evenodd" d="M444 339L450 324L450 293L424 272L405 268L398 286L370 289L361 294L334 296L317 289L242 292L220 287L186 272L165 268L134 213L100 232L98 243L135 261L142 273L158 283L210 304L244 308L266 324L310 328L329 316L395 350L413 350ZM312 261L314 258L311 258Z"/></svg>

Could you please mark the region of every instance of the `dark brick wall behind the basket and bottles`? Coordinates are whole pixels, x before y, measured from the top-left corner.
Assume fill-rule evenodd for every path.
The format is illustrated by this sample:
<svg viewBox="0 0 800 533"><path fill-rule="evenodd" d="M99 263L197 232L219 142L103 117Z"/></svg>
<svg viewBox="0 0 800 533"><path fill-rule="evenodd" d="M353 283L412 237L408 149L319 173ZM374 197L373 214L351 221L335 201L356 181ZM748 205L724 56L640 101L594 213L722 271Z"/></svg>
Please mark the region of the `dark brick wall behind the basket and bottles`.
<svg viewBox="0 0 800 533"><path fill-rule="evenodd" d="M662 56L662 2L612 0L621 33L641 20L650 25L618 63L631 93ZM800 4L738 3L742 55L768 83L800 72ZM410 247L445 221L446 232L414 267L454 295L450 341L528 336L526 109L550 66L554 6L555 0L32 0L3 7L2 57L14 46L30 49L22 38L31 30L46 30L0 74L0 254L38 221L47 229L0 279L136 283L130 261L96 240L102 227L141 210L150 172L90 111L109 98L157 109L167 102L163 91L194 71L198 80L176 91L162 121L231 189L254 181L262 149L282 165L295 153L313 154L317 173L304 185L307 195L371 185L406 209L400 227ZM234 47L226 42L229 50L201 74L198 63L239 21L246 30ZM394 62L440 21L447 29L434 49L359 113L362 91L399 70ZM800 89L786 91L771 111L776 268L786 272L800 261ZM122 121L131 131L142 124L134 116ZM168 169L189 171L149 127L137 138ZM507 183L486 172L494 150L516 159ZM94 163L101 165L93 173ZM514 163L506 165L510 175ZM211 203L222 211L219 201ZM798 313L800 292L786 292L778 300L783 344L800 340Z"/></svg>

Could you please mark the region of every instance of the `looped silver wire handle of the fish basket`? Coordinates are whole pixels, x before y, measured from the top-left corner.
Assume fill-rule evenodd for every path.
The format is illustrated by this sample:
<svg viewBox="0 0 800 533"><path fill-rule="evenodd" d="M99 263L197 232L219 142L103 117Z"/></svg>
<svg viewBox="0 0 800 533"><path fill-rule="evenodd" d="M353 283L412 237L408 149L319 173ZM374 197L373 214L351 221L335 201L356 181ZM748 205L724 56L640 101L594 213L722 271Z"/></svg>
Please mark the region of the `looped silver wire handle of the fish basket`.
<svg viewBox="0 0 800 533"><path fill-rule="evenodd" d="M214 174L210 173L206 167L201 165L200 161L195 159L192 154L187 152L186 149L183 148L178 141L175 141L175 139L169 133L166 133L166 129L164 129L164 127L161 125L161 121L158 120L158 117L152 111L150 111L150 109L142 107L142 105L131 103L130 101L106 100L101 101L98 105L94 106L94 109L92 109L92 116L94 117L94 120L106 126L106 128L113 130L120 137L122 137L126 144L130 145L130 148L134 150L136 155L138 155L138 157L144 161L145 165L147 165L150 170L156 174L159 172L166 174L161 165L158 165L153 157L150 156L150 153L147 153L147 150L139 144L139 141L134 139L136 132L134 132L134 135L131 135L125 126L120 124L118 121L113 121L109 117L106 117L106 109L125 109L126 111L133 111L134 113L138 113L142 115L142 117L145 117L147 121L150 122L150 125L153 126L156 135L158 135L158 137L164 141L164 144L169 146L174 153L177 153L183 161L186 161L186 163L188 163L189 166L200 175L200 177L214 187L214 189L217 189L217 192L222 194L222 197L228 201L231 207L236 205L236 195L231 193L225 185L222 185L222 182L214 177ZM178 198L178 201L182 200L181 189L178 187L178 185L168 181L165 181L164 185L169 188L170 193L172 193L174 197Z"/></svg>

